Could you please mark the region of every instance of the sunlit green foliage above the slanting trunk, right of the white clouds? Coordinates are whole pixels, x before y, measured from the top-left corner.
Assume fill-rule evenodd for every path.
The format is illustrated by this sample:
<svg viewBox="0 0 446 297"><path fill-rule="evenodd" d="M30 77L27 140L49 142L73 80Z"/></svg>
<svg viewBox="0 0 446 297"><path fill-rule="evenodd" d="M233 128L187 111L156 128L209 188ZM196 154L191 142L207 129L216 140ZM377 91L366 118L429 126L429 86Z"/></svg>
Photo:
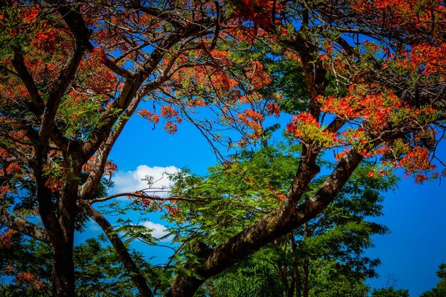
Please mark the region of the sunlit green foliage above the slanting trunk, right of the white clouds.
<svg viewBox="0 0 446 297"><path fill-rule="evenodd" d="M294 177L295 150L281 145L245 152L241 162L211 167L207 177L187 170L172 175L172 194L197 199L177 202L182 212L167 218L180 224L175 240L193 233L194 240L214 246L277 207Z"/></svg>

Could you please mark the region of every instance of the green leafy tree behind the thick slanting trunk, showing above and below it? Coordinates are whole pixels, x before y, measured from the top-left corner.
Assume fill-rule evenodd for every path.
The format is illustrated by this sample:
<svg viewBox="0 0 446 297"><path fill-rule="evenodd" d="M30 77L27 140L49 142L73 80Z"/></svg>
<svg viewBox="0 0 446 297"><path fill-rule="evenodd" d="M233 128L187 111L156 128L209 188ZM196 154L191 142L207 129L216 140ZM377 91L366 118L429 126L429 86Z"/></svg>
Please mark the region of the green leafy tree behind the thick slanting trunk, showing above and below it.
<svg viewBox="0 0 446 297"><path fill-rule="evenodd" d="M188 170L171 176L175 182L172 194L195 199L194 203L175 202L182 211L167 217L175 224L171 230L175 241L183 244L177 257L182 269L187 271L188 264L199 263L200 252L209 246L224 242L279 207L299 166L298 152L299 146L267 146L210 168L206 177ZM321 166L332 165L321 162ZM368 177L371 166L358 167L320 217L208 281L204 290L211 296L284 296L298 271L301 279L308 278L309 296L366 296L368 286L363 281L376 276L380 261L364 256L364 251L373 247L371 236L388 232L369 219L382 214L381 192L393 189L398 180L391 174ZM315 179L305 199L325 179ZM295 245L292 251L290 240ZM305 259L308 272L304 271Z"/></svg>

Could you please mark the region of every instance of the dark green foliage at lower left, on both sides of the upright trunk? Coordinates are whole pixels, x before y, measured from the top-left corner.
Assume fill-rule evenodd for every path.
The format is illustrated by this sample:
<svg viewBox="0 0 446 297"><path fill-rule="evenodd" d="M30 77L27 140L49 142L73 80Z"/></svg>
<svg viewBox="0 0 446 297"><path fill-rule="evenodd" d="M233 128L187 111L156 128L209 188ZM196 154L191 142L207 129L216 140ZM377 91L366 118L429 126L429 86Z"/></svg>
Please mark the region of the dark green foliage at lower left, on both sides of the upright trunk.
<svg viewBox="0 0 446 297"><path fill-rule="evenodd" d="M87 239L85 244L75 246L73 261L78 297L125 297L135 296L134 284L123 269L112 246L105 246L106 239ZM46 244L25 239L16 234L11 249L0 249L0 296L21 297L51 296L52 251ZM142 255L133 253L142 271L148 271L148 264ZM42 290L33 290L27 283L18 281L19 273L32 273L37 281L43 282ZM152 275L147 275L152 279Z"/></svg>

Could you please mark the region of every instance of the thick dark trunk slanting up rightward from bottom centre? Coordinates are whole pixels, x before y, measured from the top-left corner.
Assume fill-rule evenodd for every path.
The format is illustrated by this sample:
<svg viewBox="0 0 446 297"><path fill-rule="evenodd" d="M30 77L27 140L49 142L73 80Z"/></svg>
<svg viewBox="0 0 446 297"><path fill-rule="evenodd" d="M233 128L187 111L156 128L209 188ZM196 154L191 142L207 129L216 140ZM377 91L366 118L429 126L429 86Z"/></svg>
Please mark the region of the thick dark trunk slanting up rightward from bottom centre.
<svg viewBox="0 0 446 297"><path fill-rule="evenodd" d="M299 207L294 207L291 204L282 204L282 207L275 212L266 215L259 222L233 236L224 244L211 249L208 256L204 257L203 264L195 267L195 269L191 269L193 273L190 276L177 276L175 278L165 296L192 297L197 288L207 278L217 275L217 273L224 271L224 269L259 250L265 244L274 239L279 239L279 237L284 236L289 231L302 226L309 219L316 217L333 201L336 194L341 191L341 188L361 160L363 160L363 156L358 154L358 152L353 150L348 152L313 197L307 199ZM309 174L307 178L311 180L313 172L306 172L306 174ZM305 189L301 189L301 191L303 193Z"/></svg>

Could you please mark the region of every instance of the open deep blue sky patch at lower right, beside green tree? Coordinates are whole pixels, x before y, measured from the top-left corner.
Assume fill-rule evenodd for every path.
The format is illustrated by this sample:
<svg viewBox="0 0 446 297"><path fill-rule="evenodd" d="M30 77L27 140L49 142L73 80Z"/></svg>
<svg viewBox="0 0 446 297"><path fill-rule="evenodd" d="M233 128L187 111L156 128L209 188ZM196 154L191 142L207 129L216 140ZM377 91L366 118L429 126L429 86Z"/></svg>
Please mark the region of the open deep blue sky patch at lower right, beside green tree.
<svg viewBox="0 0 446 297"><path fill-rule="evenodd" d="M409 289L411 297L435 287L438 265L446 262L445 182L420 185L403 177L399 189L385 194L385 216L376 221L392 233L376 236L375 249L368 251L383 262L381 277L370 285L385 286L392 276L396 287Z"/></svg>

